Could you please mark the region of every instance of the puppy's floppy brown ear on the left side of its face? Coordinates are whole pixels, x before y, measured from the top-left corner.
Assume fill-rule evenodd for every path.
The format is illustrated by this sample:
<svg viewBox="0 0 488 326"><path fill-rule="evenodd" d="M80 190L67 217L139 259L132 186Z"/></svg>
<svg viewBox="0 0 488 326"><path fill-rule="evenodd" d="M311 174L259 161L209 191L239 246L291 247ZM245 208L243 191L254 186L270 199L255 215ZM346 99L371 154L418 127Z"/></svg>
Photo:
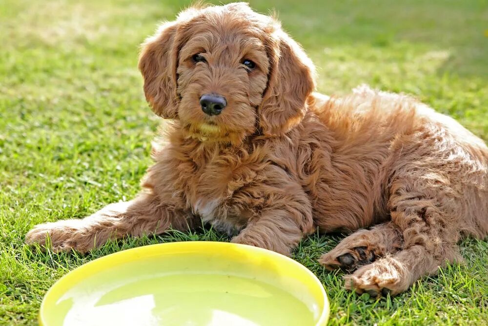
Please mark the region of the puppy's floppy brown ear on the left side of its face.
<svg viewBox="0 0 488 326"><path fill-rule="evenodd" d="M154 113L163 118L178 116L176 65L178 22L166 22L142 44L139 70L144 78L144 94Z"/></svg>

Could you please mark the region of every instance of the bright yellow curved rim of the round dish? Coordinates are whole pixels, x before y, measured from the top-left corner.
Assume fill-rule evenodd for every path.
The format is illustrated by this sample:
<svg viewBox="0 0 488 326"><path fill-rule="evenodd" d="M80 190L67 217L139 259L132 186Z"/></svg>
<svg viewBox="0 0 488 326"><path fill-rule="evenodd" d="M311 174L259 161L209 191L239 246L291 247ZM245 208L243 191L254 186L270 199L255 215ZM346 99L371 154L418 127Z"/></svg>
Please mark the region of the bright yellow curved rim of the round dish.
<svg viewBox="0 0 488 326"><path fill-rule="evenodd" d="M57 289L57 287L61 286L63 283L66 283L69 281L70 278L76 277L78 275L86 275L84 271L86 269L90 269L92 265L100 263L101 260L106 260L108 257L110 259L114 259L114 257L122 256L122 255L127 255L127 252L131 252L132 256L151 256L151 253L155 253L161 246L164 246L165 248L171 247L171 246L178 246L178 247L240 247L245 249L246 251L257 251L263 254L264 256L271 258L271 259L277 259L277 260L282 260L282 261L288 261L294 264L296 267L299 269L302 269L310 278L310 280L314 283L314 286L318 287L320 290L320 293L322 294L323 297L323 309L322 313L316 322L315 326L325 326L327 325L328 317L330 314L330 305L328 301L327 294L325 292L324 285L320 280L317 278L317 276L312 273L308 268L306 268L303 264L301 264L298 261L295 261L291 259L290 257L287 257L285 255L279 254L277 252L267 250L264 248L260 247L255 247L251 245L246 245L246 244L240 244L240 243L233 243L233 242L222 242L222 241L174 241L174 242L164 242L164 243L156 243L156 244L150 244L150 245L142 245L140 247L135 247L135 248L129 248L129 249L124 249L121 251L117 251L115 253L105 255L99 258L94 259L93 261L88 261L75 269L69 271L65 275L63 275L59 280L57 280L51 287L47 290L47 292L44 294L44 297L42 298L41 306L39 309L39 314L38 314L38 322L40 326L47 326L46 321L44 320L43 316L43 311L45 310L46 302L49 300L51 296L53 296L53 292ZM142 255L138 255L142 254ZM149 254L149 255L147 255ZM130 261L130 260L127 260Z"/></svg>

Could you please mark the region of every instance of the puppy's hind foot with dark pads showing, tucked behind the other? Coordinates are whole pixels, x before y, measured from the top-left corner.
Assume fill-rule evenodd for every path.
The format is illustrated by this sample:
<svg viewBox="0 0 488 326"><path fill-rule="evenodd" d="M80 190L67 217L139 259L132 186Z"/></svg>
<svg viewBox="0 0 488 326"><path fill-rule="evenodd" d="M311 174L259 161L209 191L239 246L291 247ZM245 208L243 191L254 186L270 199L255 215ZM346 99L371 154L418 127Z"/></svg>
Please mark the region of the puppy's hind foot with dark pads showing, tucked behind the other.
<svg viewBox="0 0 488 326"><path fill-rule="evenodd" d="M392 222L376 225L370 230L359 230L343 239L334 249L322 255L319 262L325 268L341 268L352 272L403 246L400 229Z"/></svg>

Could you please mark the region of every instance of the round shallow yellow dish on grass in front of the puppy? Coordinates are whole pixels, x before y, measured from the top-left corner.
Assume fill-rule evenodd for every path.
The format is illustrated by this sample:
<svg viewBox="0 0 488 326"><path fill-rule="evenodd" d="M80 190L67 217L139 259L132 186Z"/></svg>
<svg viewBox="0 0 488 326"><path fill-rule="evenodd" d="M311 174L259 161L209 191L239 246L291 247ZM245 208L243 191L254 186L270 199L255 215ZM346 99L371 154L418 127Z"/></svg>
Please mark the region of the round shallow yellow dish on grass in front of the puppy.
<svg viewBox="0 0 488 326"><path fill-rule="evenodd" d="M275 252L227 242L173 242L111 254L46 293L41 326L323 326L322 283Z"/></svg>

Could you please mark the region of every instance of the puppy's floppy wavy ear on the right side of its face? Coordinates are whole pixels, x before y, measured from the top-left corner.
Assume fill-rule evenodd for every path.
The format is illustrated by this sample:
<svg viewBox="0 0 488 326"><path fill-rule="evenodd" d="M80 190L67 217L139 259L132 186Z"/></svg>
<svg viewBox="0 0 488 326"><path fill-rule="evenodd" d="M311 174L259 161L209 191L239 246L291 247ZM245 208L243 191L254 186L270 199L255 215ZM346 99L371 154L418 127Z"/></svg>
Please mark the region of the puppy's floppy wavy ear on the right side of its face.
<svg viewBox="0 0 488 326"><path fill-rule="evenodd" d="M315 82L311 60L281 29L273 33L267 48L271 70L258 115L264 135L272 136L283 134L300 123Z"/></svg>

